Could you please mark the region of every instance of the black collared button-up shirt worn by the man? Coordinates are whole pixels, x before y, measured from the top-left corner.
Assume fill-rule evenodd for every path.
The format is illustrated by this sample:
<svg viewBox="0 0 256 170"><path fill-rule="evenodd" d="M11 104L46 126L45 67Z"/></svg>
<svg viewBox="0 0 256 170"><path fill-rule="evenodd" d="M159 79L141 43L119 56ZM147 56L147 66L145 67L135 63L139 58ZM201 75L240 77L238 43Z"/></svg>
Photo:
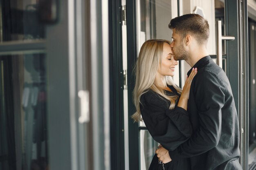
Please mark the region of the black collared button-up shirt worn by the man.
<svg viewBox="0 0 256 170"><path fill-rule="evenodd" d="M242 170L238 116L229 79L210 56L193 68L198 68L188 101L193 135L169 155L173 161L189 157L191 170Z"/></svg>

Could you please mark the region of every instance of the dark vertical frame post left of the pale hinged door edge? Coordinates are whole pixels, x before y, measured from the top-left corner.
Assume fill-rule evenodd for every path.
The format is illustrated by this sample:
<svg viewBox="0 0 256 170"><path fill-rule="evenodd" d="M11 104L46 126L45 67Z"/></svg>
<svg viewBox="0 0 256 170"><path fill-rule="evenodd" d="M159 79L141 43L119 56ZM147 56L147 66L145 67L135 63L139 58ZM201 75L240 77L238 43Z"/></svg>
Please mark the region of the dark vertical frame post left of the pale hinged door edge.
<svg viewBox="0 0 256 170"><path fill-rule="evenodd" d="M111 169L125 169L121 0L109 1Z"/></svg>

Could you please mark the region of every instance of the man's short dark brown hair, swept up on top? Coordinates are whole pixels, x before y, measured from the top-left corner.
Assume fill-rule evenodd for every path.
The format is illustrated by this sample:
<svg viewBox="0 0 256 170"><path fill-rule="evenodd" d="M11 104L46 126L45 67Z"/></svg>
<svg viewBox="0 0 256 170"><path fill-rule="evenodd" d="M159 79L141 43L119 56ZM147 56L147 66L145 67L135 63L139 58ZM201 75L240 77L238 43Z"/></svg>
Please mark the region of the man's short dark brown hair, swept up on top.
<svg viewBox="0 0 256 170"><path fill-rule="evenodd" d="M189 33L195 36L198 44L207 43L209 38L208 21L198 14L190 13L173 18L168 27L175 29L182 40Z"/></svg>

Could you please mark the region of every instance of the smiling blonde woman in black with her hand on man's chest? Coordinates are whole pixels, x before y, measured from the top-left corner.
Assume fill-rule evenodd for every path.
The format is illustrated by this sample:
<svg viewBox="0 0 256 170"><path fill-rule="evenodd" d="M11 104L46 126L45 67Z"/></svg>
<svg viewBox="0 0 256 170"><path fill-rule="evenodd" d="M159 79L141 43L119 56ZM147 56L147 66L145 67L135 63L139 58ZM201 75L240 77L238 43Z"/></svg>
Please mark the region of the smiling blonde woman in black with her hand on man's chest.
<svg viewBox="0 0 256 170"><path fill-rule="evenodd" d="M144 121L150 135L167 150L174 150L192 133L187 102L191 81L197 73L193 69L183 91L173 83L175 66L168 40L147 40L141 47L136 66L133 100L135 121ZM142 118L141 118L142 116ZM171 161L171 160L170 160ZM189 170L188 159L162 163L153 157L149 170Z"/></svg>

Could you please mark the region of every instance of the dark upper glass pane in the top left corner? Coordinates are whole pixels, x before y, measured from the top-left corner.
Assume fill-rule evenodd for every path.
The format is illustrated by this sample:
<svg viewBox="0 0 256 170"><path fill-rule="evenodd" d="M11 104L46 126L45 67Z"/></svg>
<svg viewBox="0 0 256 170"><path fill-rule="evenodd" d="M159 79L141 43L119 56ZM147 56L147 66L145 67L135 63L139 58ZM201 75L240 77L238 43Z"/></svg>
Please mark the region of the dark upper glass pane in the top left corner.
<svg viewBox="0 0 256 170"><path fill-rule="evenodd" d="M0 5L0 42L45 38L38 0L2 0Z"/></svg>

